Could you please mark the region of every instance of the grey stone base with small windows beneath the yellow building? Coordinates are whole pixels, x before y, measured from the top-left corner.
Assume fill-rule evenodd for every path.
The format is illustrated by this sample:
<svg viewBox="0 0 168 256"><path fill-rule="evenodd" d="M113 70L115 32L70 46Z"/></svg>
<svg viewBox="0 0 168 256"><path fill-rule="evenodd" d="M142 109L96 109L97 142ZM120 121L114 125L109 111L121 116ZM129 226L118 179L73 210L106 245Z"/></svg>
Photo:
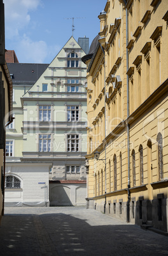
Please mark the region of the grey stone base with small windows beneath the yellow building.
<svg viewBox="0 0 168 256"><path fill-rule="evenodd" d="M104 211L104 202L101 200L91 200L92 209L106 213L107 215L127 221L127 202L107 201ZM91 206L88 199L88 206ZM90 204L91 203L91 204ZM138 201L130 201L130 222L137 225L149 225L161 231L168 231L168 199L164 194L158 194L156 199L144 200L139 197Z"/></svg>

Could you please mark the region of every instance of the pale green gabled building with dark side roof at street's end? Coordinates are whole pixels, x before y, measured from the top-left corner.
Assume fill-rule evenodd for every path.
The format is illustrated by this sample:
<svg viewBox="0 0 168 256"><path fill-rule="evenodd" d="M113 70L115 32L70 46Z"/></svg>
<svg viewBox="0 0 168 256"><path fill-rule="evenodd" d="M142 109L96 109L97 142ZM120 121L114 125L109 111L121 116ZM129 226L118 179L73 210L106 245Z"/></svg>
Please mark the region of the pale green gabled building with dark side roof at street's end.
<svg viewBox="0 0 168 256"><path fill-rule="evenodd" d="M71 37L49 65L9 64L15 126L6 141L6 168L7 176L17 178L20 185L13 183L10 192L6 176L6 204L85 204L87 80L81 62L85 54Z"/></svg>

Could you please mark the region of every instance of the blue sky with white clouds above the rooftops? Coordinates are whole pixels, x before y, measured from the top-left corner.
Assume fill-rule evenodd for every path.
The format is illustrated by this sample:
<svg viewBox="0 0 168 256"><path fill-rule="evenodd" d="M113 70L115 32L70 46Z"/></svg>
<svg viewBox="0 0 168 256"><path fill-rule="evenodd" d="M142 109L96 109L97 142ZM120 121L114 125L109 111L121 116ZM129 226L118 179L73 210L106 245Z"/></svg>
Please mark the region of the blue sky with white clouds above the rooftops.
<svg viewBox="0 0 168 256"><path fill-rule="evenodd" d="M89 44L100 31L107 0L3 0L5 48L20 63L47 63L74 36ZM72 31L74 17L74 31Z"/></svg>

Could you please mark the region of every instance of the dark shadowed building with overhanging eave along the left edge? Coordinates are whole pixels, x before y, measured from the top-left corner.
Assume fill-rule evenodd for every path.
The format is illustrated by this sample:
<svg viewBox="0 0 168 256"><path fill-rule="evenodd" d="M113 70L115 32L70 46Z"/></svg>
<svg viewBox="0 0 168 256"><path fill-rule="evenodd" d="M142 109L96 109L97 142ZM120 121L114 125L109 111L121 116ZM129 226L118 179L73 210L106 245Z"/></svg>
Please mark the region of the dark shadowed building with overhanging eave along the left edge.
<svg viewBox="0 0 168 256"><path fill-rule="evenodd" d="M5 61L4 49L4 4L0 1L0 223L4 213L4 175L5 175L5 136L6 125L13 121L12 118L12 82Z"/></svg>

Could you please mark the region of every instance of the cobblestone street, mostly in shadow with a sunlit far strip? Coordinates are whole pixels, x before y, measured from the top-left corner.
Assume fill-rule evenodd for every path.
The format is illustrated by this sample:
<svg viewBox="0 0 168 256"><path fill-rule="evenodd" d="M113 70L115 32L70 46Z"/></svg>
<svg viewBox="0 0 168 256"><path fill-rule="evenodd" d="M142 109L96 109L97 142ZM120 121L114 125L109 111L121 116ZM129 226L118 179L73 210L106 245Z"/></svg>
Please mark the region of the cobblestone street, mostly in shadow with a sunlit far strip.
<svg viewBox="0 0 168 256"><path fill-rule="evenodd" d="M84 207L6 208L0 255L168 255L168 237Z"/></svg>

